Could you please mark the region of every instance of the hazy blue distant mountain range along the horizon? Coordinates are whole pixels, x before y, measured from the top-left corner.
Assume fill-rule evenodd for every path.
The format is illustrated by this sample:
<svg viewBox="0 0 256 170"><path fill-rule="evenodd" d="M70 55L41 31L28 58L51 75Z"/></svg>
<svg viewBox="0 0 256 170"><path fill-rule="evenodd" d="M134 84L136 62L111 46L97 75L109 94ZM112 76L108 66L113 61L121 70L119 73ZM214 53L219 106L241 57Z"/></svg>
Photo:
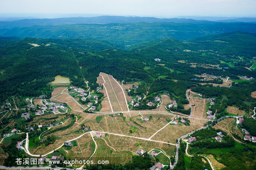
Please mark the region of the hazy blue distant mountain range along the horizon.
<svg viewBox="0 0 256 170"><path fill-rule="evenodd" d="M198 18L198 17L197 17ZM204 18L204 17L201 17ZM198 18L200 19L200 17ZM136 23L136 22L175 22L175 23L200 23L218 24L220 22L255 22L256 18L222 18L205 17L205 19L219 20L196 20L186 18L155 18L155 17L124 17L124 16L97 16L97 17L71 17L54 19L31 19L31 18L0 18L0 29L10 29L14 27L31 27L34 25L64 25L64 24L108 24L108 23ZM224 20L221 20L224 19ZM2 21L1 21L2 20Z"/></svg>

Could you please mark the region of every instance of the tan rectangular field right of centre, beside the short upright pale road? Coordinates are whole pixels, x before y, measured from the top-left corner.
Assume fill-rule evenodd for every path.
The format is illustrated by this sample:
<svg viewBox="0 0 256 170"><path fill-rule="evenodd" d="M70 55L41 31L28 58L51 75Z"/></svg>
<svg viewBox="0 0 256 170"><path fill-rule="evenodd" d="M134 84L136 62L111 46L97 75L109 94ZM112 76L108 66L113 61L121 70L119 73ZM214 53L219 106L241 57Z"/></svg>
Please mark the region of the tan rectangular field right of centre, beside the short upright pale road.
<svg viewBox="0 0 256 170"><path fill-rule="evenodd" d="M191 105L193 103L196 106L191 106L192 108L192 117L193 118L199 118L199 119L207 119L206 115L206 105L209 102L208 99L202 99L199 97L193 97L189 99Z"/></svg>

